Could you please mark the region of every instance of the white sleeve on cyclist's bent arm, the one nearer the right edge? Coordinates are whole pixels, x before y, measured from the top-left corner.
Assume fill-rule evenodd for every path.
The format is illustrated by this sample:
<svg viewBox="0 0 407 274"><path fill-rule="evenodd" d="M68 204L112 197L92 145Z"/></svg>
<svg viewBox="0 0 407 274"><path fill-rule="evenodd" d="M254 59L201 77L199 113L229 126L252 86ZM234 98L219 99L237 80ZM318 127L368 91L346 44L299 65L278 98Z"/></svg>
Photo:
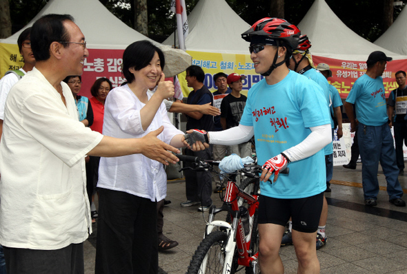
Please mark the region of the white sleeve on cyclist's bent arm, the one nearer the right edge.
<svg viewBox="0 0 407 274"><path fill-rule="evenodd" d="M310 129L310 135L301 143L283 151L290 162L312 156L332 142L332 129L330 124L310 127Z"/></svg>

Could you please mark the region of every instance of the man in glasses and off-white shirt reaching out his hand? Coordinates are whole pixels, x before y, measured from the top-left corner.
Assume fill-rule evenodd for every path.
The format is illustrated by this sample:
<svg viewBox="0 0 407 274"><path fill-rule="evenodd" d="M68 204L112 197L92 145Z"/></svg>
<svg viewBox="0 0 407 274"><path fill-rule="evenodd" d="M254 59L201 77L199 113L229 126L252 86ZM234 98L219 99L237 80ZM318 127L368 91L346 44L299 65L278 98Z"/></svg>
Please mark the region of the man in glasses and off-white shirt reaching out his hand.
<svg viewBox="0 0 407 274"><path fill-rule="evenodd" d="M168 165L178 160L170 151L179 150L156 138L162 127L117 139L79 122L62 80L82 74L89 52L70 15L41 17L31 46L37 63L12 87L5 107L0 244L8 273L83 273L83 241L92 232L85 156L143 154Z"/></svg>

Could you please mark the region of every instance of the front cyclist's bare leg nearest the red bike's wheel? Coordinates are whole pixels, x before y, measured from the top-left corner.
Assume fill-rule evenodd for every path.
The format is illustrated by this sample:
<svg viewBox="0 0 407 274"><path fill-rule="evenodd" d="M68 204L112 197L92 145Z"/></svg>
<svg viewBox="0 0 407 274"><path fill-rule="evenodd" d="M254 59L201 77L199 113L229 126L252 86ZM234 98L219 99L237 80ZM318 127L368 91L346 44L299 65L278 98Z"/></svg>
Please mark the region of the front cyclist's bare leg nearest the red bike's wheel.
<svg viewBox="0 0 407 274"><path fill-rule="evenodd" d="M283 274L279 249L284 226L279 224L259 224L259 265L261 274ZM314 240L315 242L315 240Z"/></svg>

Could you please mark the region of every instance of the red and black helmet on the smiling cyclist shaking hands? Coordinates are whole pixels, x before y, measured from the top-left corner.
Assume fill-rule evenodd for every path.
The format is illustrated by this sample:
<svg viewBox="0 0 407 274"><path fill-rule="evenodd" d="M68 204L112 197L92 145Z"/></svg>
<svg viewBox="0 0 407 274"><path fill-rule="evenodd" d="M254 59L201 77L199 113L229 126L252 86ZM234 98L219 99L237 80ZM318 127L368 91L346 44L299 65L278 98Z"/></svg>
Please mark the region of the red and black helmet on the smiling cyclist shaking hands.
<svg viewBox="0 0 407 274"><path fill-rule="evenodd" d="M250 42L254 35L269 36L272 39L285 41L292 50L295 50L300 34L299 29L285 19L266 17L254 23L248 31L241 34L241 38Z"/></svg>

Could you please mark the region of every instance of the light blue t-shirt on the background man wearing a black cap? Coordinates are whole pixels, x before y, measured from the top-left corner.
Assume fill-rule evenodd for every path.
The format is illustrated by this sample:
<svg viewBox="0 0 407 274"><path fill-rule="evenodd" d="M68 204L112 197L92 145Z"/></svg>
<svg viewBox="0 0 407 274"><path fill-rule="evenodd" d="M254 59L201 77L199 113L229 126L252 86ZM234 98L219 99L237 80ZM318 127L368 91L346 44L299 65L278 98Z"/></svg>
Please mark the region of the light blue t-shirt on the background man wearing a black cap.
<svg viewBox="0 0 407 274"><path fill-rule="evenodd" d="M356 118L360 123L373 126L387 123L386 96L381 76L373 79L364 74L357 78L346 102L355 104Z"/></svg>

